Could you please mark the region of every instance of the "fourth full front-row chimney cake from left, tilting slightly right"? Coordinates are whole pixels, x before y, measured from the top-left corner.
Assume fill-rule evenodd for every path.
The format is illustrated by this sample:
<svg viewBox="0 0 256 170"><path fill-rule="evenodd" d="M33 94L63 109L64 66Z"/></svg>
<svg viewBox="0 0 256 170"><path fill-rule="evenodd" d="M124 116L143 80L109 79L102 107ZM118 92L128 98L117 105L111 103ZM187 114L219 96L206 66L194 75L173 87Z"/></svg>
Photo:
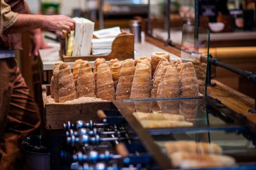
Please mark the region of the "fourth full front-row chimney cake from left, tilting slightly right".
<svg viewBox="0 0 256 170"><path fill-rule="evenodd" d="M122 62L121 71L119 74L119 83L117 84L116 98L129 99L131 95L131 85L135 73L133 59L127 59Z"/></svg>

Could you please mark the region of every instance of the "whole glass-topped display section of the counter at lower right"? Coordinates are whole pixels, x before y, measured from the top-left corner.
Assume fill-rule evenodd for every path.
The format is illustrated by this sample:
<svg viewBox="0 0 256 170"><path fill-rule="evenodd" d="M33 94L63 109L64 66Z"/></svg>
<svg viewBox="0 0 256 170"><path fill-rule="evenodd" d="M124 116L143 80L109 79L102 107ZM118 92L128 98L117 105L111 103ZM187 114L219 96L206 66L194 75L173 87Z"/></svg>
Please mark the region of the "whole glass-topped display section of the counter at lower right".
<svg viewBox="0 0 256 170"><path fill-rule="evenodd" d="M211 97L114 104L162 169L256 168L251 122Z"/></svg>

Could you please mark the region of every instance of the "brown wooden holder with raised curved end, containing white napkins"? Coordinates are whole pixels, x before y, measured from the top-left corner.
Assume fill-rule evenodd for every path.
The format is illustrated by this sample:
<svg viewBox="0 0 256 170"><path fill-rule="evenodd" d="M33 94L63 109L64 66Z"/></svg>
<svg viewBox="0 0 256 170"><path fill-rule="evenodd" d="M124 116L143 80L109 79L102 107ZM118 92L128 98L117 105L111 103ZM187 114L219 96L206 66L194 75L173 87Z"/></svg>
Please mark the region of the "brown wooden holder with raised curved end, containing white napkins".
<svg viewBox="0 0 256 170"><path fill-rule="evenodd" d="M108 55L90 55L90 56L65 56L65 40L61 39L60 56L64 62L75 62L77 59L82 60L96 60L96 58L105 58L105 60L111 60L117 58L119 60L125 60L127 58L134 58L134 36L123 32L115 38L112 44L112 51Z"/></svg>

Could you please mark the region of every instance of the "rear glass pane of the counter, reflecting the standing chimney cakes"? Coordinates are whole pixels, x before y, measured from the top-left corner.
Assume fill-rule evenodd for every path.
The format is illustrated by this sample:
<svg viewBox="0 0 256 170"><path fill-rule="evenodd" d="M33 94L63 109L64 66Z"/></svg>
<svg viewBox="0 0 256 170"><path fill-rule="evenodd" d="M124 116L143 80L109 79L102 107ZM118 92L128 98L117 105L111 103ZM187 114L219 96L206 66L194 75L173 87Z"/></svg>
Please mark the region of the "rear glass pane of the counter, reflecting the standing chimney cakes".
<svg viewBox="0 0 256 170"><path fill-rule="evenodd" d="M116 106L122 114L133 115L143 128L148 129L234 126L230 118L217 110L207 110L202 98L123 100Z"/></svg>

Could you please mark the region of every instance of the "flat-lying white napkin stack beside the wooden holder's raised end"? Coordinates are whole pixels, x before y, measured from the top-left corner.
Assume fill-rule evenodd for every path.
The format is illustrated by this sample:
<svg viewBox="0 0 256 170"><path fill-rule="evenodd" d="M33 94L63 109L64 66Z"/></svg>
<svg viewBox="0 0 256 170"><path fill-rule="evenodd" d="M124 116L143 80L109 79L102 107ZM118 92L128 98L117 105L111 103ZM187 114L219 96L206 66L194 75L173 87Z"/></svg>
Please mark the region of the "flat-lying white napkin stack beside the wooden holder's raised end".
<svg viewBox="0 0 256 170"><path fill-rule="evenodd" d="M94 36L98 39L92 39L92 54L110 54L113 41L119 34L121 34L121 29L119 27L95 31Z"/></svg>

